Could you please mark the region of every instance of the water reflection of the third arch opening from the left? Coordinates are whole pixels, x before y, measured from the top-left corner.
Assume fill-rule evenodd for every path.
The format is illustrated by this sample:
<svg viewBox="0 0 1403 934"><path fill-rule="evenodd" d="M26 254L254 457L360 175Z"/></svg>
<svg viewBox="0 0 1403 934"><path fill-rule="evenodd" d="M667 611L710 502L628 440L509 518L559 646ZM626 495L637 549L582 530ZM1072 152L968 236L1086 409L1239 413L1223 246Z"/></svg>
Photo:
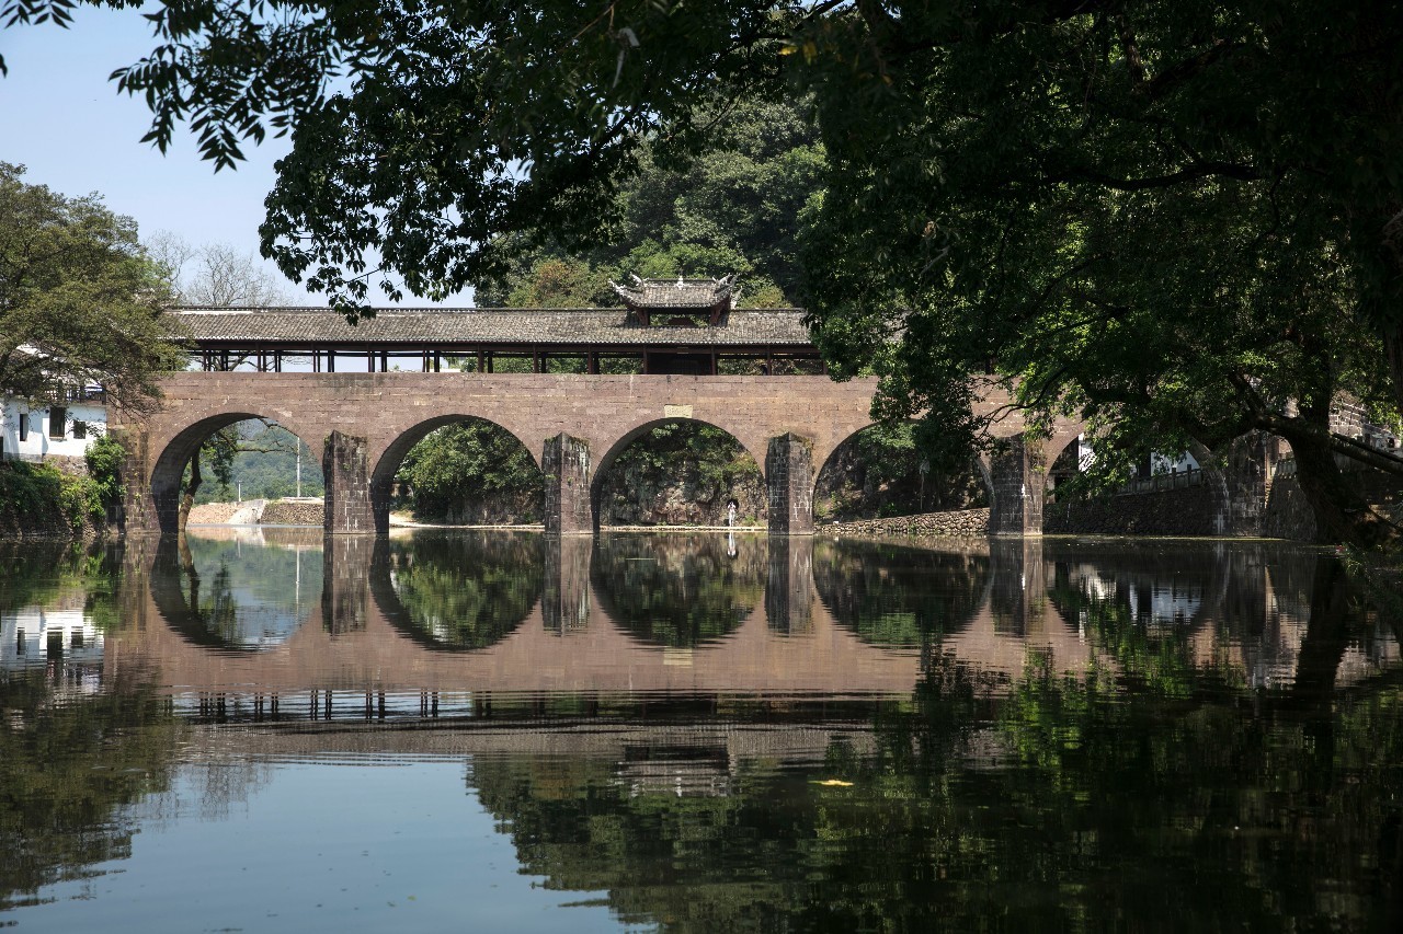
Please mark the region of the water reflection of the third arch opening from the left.
<svg viewBox="0 0 1403 934"><path fill-rule="evenodd" d="M640 642L693 648L730 635L765 600L758 536L605 536L591 581L600 609ZM734 551L734 554L731 554Z"/></svg>

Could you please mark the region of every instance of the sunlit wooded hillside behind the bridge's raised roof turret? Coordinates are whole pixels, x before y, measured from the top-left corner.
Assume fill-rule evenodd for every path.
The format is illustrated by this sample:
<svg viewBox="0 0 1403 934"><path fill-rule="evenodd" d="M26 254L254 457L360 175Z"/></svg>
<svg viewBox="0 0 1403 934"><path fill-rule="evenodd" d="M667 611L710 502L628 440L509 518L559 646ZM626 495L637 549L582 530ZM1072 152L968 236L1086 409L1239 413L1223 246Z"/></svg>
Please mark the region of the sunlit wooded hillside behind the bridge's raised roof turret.
<svg viewBox="0 0 1403 934"><path fill-rule="evenodd" d="M800 216L824 170L812 116L807 100L745 97L707 108L711 130L694 158L650 139L637 171L619 184L617 220L599 238L567 251L554 223L498 238L492 250L505 271L474 283L478 304L616 306L609 280L629 273L738 273L745 307L803 302Z"/></svg>

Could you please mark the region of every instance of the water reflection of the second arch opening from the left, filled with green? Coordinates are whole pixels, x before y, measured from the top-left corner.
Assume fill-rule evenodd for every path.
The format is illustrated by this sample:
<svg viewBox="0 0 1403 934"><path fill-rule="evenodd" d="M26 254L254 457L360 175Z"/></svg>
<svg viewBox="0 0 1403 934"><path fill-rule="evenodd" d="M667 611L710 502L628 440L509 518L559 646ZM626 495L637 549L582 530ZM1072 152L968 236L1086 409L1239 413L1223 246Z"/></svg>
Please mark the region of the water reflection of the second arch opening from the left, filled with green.
<svg viewBox="0 0 1403 934"><path fill-rule="evenodd" d="M511 635L540 599L539 534L448 532L382 540L370 596L414 641L446 652L485 649Z"/></svg>

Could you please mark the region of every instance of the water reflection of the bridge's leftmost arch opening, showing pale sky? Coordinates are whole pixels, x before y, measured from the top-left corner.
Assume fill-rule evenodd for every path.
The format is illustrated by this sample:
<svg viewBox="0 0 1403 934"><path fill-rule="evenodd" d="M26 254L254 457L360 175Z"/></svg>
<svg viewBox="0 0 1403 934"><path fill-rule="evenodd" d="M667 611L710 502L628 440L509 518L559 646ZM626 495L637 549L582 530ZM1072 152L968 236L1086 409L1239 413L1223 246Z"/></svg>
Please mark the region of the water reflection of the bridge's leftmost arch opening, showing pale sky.
<svg viewBox="0 0 1403 934"><path fill-rule="evenodd" d="M150 590L166 623L196 645L257 652L282 645L321 600L317 547L268 547L237 536L166 536Z"/></svg>

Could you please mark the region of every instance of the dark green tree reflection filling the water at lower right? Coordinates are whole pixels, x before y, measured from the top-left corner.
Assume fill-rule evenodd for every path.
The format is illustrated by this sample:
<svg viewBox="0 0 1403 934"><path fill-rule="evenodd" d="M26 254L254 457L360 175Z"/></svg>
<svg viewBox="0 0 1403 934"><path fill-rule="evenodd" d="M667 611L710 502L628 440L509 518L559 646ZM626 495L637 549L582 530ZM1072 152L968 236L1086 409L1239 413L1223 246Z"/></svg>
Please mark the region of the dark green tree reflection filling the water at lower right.
<svg viewBox="0 0 1403 934"><path fill-rule="evenodd" d="M1000 684L932 651L871 745L822 763L679 753L668 785L494 756L469 783L525 872L668 931L1397 930L1403 696L1334 686L1361 620L1333 561L1303 589L1288 686L1188 663L1173 625L1083 677L1030 649ZM1104 606L1097 638L1125 645Z"/></svg>

